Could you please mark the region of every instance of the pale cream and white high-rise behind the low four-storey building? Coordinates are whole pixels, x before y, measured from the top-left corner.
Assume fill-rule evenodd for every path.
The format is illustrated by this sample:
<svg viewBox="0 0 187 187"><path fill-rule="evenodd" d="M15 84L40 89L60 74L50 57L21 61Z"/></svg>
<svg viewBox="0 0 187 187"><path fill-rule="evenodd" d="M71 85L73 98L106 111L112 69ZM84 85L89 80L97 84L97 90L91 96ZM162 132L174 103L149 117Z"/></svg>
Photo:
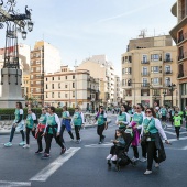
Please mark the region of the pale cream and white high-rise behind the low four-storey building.
<svg viewBox="0 0 187 187"><path fill-rule="evenodd" d="M102 105L109 106L114 102L114 68L111 62L109 62L106 55L94 55L86 58L77 69L87 69L90 72L90 76L99 78L105 82L105 89L99 88L102 98Z"/></svg>

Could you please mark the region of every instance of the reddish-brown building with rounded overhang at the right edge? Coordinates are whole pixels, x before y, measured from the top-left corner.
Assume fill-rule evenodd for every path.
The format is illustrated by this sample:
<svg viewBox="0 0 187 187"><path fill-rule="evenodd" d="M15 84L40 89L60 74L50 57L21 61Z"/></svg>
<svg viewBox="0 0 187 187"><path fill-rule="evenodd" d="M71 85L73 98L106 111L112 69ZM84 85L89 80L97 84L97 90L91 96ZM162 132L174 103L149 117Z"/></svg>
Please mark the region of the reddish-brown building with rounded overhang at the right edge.
<svg viewBox="0 0 187 187"><path fill-rule="evenodd" d="M177 16L177 24L170 30L170 35L177 45L179 107L184 109L187 106L187 0L177 0L172 13Z"/></svg>

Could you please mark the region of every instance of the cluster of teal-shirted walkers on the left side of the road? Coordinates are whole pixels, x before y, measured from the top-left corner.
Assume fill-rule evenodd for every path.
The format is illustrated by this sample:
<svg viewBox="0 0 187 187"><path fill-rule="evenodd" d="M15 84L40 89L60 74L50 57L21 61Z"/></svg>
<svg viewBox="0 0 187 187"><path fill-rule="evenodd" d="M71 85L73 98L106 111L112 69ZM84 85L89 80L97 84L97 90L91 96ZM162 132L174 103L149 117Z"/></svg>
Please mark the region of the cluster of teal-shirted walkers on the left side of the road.
<svg viewBox="0 0 187 187"><path fill-rule="evenodd" d="M28 109L28 116L24 125L24 113L21 102L16 102L15 109L15 119L13 121L10 139L8 143L4 143L6 147L12 146L12 140L14 136L15 131L20 131L22 135L22 142L19 144L23 146L23 148L30 147L30 133L37 140L38 148L35 154L43 154L41 158L45 160L50 157L51 144L53 138L55 139L56 143L61 146L61 154L66 152L66 147L64 145L65 141L63 138L65 129L69 133L72 140L74 140L74 135L72 132L72 124L75 125L75 133L76 133L76 143L80 143L80 128L84 124L84 114L80 109L77 107L75 108L75 113L73 118L70 118L69 112L67 111L67 107L63 107L62 112L62 121L59 120L58 116L55 113L54 107L42 108L42 114L38 118L38 122L36 119L35 113L32 109ZM24 133L25 130L25 133ZM26 136L26 141L25 141ZM43 150L42 139L45 140L45 150Z"/></svg>

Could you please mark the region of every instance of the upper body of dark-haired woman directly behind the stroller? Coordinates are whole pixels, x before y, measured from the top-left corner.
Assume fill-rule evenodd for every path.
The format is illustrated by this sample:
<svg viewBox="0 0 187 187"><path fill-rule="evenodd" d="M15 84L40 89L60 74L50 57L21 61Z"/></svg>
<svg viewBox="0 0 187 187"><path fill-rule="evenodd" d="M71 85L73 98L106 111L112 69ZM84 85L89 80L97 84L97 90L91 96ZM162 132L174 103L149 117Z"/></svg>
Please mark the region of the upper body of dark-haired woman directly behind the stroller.
<svg viewBox="0 0 187 187"><path fill-rule="evenodd" d="M119 125L119 129L125 129L127 125L130 123L130 114L127 113L128 107L125 105L121 106L121 110L117 117L117 125Z"/></svg>

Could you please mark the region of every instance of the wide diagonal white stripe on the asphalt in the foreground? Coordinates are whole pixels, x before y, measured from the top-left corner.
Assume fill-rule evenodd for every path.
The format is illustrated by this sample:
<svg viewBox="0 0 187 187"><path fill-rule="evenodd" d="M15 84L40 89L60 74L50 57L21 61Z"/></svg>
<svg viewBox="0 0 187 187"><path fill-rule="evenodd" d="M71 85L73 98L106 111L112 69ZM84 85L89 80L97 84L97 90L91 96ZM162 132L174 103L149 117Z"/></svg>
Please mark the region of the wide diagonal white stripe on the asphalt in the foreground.
<svg viewBox="0 0 187 187"><path fill-rule="evenodd" d="M56 158L30 180L46 182L46 179L53 175L65 162L67 162L78 150L80 150L80 147L68 148L64 155Z"/></svg>

